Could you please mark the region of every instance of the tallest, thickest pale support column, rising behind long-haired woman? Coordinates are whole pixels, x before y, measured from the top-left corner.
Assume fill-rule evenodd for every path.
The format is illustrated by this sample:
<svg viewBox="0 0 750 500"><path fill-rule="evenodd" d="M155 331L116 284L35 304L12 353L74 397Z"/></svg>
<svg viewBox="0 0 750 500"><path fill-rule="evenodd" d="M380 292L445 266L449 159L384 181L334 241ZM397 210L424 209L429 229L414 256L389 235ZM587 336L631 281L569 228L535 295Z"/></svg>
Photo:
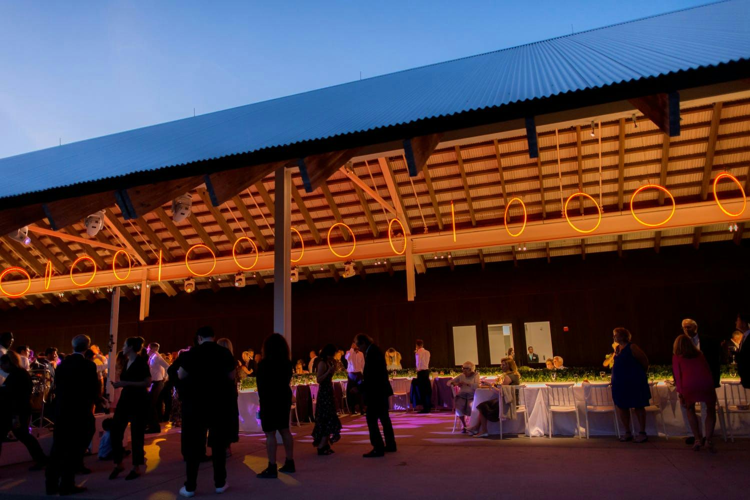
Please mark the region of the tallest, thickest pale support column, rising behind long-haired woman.
<svg viewBox="0 0 750 500"><path fill-rule="evenodd" d="M274 331L292 346L292 172L276 169L274 217Z"/></svg>

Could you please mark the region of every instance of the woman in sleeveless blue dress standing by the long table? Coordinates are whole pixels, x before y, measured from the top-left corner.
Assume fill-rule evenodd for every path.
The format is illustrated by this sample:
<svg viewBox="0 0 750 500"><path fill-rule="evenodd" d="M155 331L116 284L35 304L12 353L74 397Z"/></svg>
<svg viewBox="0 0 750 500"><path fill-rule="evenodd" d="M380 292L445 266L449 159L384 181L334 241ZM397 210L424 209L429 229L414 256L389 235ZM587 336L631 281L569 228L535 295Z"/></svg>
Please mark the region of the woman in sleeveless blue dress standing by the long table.
<svg viewBox="0 0 750 500"><path fill-rule="evenodd" d="M625 435L620 441L642 443L648 441L646 436L646 406L651 399L651 388L646 372L649 360L646 354L630 342L631 334L625 328L615 328L612 337L617 344L612 365L612 400L617 407L617 415L625 428ZM630 409L633 409L638 421L638 436L633 438L630 432Z"/></svg>

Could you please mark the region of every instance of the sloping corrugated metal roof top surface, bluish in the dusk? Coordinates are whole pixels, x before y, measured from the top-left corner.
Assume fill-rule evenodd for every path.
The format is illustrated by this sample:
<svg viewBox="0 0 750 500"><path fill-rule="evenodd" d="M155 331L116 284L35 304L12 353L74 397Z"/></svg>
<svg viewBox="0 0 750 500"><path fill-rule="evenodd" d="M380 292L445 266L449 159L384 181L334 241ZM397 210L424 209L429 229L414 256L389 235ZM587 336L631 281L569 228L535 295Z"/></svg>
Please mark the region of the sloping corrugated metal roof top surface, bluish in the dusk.
<svg viewBox="0 0 750 500"><path fill-rule="evenodd" d="M0 160L0 198L746 60L748 11L693 7L21 154Z"/></svg>

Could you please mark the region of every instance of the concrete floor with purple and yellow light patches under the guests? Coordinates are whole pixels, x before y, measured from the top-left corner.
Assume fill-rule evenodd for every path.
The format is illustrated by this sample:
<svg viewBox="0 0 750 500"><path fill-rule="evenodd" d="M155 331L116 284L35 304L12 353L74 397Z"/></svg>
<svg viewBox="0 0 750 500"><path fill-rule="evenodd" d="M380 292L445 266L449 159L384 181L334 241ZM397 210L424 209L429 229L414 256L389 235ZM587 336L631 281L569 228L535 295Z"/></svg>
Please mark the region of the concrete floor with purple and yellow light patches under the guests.
<svg viewBox="0 0 750 500"><path fill-rule="evenodd" d="M750 441L716 440L717 454L694 453L682 439L652 438L641 445L614 438L508 437L472 439L452 434L453 417L394 414L398 453L363 459L370 450L362 417L342 419L341 442L329 457L317 457L312 425L295 427L295 475L277 481L255 477L267 463L263 436L242 436L228 460L230 489L223 499L353 500L405 499L740 499L750 488ZM79 476L89 488L82 499L172 500L184 481L178 430L146 439L147 474L109 481L112 464L88 457L94 472ZM280 447L280 462L284 452ZM0 469L0 499L43 495L43 472L29 464ZM214 496L211 466L202 466L196 498Z"/></svg>

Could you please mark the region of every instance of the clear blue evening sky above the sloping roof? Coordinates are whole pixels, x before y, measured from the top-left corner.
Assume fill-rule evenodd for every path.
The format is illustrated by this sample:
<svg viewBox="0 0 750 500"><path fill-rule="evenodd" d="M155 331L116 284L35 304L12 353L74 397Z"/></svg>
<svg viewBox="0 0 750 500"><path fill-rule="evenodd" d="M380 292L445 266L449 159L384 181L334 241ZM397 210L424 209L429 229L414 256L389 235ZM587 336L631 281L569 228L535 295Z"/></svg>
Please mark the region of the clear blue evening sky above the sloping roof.
<svg viewBox="0 0 750 500"><path fill-rule="evenodd" d="M704 4L0 2L0 157Z"/></svg>

